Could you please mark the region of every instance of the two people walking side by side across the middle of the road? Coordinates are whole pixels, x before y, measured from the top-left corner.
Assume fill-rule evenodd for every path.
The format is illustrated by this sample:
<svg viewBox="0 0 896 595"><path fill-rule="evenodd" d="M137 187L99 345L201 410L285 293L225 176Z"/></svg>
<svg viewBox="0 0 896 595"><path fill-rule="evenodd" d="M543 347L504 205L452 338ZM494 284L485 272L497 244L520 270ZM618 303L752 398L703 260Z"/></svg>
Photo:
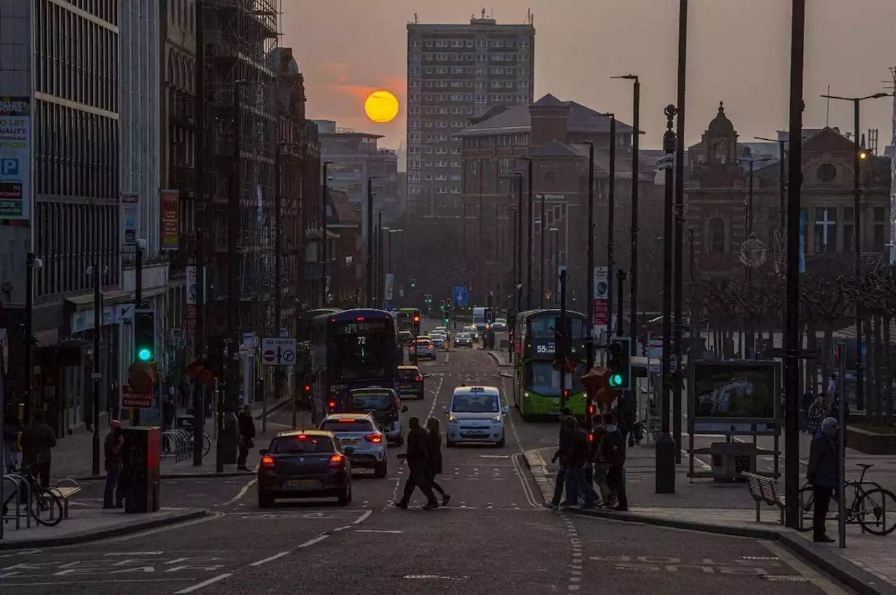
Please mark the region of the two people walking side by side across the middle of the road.
<svg viewBox="0 0 896 595"><path fill-rule="evenodd" d="M435 499L435 490L442 496L442 506L448 506L451 496L439 485L435 477L442 472L442 430L435 417L426 420L426 429L420 426L420 418L408 420L408 447L404 455L399 455L408 463L408 480L404 482L404 493L401 500L395 503L398 508L407 508L414 489L420 489L426 497L424 510L435 510L439 507ZM427 431L428 430L428 431Z"/></svg>

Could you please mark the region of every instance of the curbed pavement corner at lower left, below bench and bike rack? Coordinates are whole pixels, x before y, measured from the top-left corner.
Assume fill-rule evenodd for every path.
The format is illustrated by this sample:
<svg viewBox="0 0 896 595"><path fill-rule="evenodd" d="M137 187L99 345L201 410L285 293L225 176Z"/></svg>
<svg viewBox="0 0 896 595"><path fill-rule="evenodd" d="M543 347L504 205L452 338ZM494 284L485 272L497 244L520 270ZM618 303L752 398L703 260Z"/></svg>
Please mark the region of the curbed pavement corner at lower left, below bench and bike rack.
<svg viewBox="0 0 896 595"><path fill-rule="evenodd" d="M16 531L14 521L6 523L0 550L71 546L185 523L206 514L208 511L202 508L162 508L157 513L125 514L123 510L73 506L69 518L55 527L42 527L32 520L31 526L26 528L22 518L21 528Z"/></svg>

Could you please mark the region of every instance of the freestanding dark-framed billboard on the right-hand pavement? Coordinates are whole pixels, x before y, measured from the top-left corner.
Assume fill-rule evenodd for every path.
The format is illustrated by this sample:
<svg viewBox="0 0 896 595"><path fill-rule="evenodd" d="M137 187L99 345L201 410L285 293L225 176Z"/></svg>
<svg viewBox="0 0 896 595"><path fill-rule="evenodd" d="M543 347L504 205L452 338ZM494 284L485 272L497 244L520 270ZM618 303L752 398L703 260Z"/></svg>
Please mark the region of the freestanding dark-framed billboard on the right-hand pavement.
<svg viewBox="0 0 896 595"><path fill-rule="evenodd" d="M689 362L688 376L692 434L778 433L778 362L697 360Z"/></svg>

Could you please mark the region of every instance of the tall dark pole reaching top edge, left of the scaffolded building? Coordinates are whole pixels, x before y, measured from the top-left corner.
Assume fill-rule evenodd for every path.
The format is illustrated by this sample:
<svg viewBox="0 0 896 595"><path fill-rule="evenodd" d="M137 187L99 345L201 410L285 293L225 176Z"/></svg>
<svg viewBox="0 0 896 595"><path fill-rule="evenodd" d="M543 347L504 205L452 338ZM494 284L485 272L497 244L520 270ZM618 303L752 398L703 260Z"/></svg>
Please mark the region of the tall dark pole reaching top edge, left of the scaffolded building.
<svg viewBox="0 0 896 595"><path fill-rule="evenodd" d="M205 31L203 13L205 0L196 0L196 97L195 143L196 201L194 229L196 236L194 267L196 268L196 327L195 355L205 354ZM205 422L205 386L193 381L193 466L202 465L202 428Z"/></svg>

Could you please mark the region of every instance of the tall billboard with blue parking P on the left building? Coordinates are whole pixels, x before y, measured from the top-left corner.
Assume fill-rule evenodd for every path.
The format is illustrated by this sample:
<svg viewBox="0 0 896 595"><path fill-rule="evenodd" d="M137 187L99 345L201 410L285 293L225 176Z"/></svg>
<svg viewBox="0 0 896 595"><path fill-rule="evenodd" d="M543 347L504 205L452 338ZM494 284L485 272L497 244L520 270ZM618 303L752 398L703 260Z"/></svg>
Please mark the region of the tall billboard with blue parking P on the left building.
<svg viewBox="0 0 896 595"><path fill-rule="evenodd" d="M0 97L0 219L31 217L31 99Z"/></svg>

